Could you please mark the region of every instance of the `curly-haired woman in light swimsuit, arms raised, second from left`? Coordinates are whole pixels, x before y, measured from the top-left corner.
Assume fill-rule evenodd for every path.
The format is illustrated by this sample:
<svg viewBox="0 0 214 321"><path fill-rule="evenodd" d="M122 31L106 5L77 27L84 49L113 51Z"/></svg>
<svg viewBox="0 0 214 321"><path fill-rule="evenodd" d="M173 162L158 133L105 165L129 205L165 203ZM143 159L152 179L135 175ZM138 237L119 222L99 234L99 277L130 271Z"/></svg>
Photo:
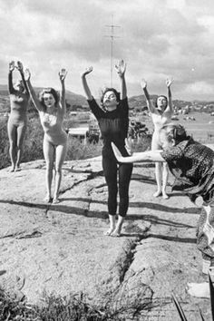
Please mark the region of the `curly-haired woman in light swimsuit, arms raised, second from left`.
<svg viewBox="0 0 214 321"><path fill-rule="evenodd" d="M64 79L66 70L62 69L59 73L62 84L62 93L59 99L57 92L53 88L46 88L40 92L37 98L34 88L30 82L31 73L25 70L25 81L30 92L34 106L39 112L40 121L44 129L44 160L46 162L46 197L45 201L52 201L52 180L53 180L53 161L55 155L55 188L53 193L53 203L59 202L59 190L62 180L62 166L67 149L67 134L63 131L63 117L65 113L65 86Z"/></svg>

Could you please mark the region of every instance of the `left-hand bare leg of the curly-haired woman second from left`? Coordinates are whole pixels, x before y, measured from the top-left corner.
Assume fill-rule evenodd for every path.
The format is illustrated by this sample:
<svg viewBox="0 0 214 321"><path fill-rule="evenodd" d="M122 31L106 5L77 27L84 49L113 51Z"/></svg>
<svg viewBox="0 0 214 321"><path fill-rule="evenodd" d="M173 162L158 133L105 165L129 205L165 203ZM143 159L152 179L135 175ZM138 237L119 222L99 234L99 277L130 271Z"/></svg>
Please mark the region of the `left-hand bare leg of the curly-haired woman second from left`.
<svg viewBox="0 0 214 321"><path fill-rule="evenodd" d="M50 202L52 198L53 158L54 147L49 141L44 138L44 160L46 162L46 197L44 198L44 200L47 202Z"/></svg>

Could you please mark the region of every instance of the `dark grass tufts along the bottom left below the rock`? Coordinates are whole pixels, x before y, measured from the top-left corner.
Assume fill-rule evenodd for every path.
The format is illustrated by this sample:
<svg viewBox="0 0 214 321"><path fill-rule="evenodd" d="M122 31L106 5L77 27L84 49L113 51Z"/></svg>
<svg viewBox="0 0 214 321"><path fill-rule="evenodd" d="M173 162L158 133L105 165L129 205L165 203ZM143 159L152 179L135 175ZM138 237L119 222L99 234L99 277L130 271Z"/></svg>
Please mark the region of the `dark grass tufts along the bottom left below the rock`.
<svg viewBox="0 0 214 321"><path fill-rule="evenodd" d="M94 306L86 296L55 297L44 295L43 306L33 306L25 300L15 300L0 289L0 320L11 321L126 321L135 319L146 305Z"/></svg>

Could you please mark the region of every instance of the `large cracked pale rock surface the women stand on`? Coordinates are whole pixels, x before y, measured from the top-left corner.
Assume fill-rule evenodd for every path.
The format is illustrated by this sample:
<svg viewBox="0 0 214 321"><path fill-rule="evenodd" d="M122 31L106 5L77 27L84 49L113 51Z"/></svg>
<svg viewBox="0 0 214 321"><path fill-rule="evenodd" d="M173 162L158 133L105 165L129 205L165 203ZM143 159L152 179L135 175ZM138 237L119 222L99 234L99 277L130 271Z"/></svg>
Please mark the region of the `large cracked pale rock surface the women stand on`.
<svg viewBox="0 0 214 321"><path fill-rule="evenodd" d="M199 207L178 193L154 199L154 168L135 164L122 237L106 237L101 158L64 163L55 205L43 201L44 170L44 160L15 173L0 170L1 287L34 304L44 292L83 292L96 304L139 310L136 319L151 321L180 320L174 293L189 321L201 320L199 308L211 320L209 300L185 291L187 282L206 280L195 238Z"/></svg>

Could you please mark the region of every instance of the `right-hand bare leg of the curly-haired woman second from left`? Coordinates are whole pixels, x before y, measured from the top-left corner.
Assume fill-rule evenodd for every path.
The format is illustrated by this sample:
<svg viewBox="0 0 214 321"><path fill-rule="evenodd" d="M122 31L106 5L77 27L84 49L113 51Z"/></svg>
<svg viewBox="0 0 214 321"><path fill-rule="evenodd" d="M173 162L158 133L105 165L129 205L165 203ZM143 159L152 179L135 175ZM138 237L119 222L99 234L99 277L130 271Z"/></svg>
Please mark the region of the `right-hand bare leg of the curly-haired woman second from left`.
<svg viewBox="0 0 214 321"><path fill-rule="evenodd" d="M55 189L53 194L53 203L59 202L59 190L60 184L62 180L62 167L63 161L66 156L67 151L67 143L65 142L63 145L58 145L55 149Z"/></svg>

